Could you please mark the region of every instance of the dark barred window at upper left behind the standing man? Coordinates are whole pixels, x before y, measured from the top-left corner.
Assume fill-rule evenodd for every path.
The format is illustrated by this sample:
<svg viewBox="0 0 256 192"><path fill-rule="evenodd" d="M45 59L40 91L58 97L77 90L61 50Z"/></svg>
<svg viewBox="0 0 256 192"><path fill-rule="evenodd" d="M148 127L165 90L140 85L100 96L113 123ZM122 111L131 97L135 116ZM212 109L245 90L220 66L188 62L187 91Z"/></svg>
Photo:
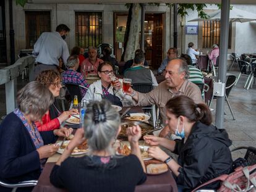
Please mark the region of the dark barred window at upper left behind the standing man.
<svg viewBox="0 0 256 192"><path fill-rule="evenodd" d="M33 49L41 33L51 31L50 11L25 11L26 48Z"/></svg>

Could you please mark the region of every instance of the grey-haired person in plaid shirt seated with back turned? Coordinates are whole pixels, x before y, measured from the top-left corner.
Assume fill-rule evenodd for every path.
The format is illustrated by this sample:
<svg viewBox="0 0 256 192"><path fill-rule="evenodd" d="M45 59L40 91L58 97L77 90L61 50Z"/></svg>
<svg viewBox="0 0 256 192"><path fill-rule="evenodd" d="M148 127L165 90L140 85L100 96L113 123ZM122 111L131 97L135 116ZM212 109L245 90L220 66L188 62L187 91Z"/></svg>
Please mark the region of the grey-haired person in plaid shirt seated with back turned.
<svg viewBox="0 0 256 192"><path fill-rule="evenodd" d="M89 85L87 81L83 78L83 75L77 72L77 69L79 68L79 57L77 55L70 56L69 59L67 59L66 67L67 70L62 73L63 83L82 85L83 87L80 86L80 91L82 93L82 97L85 96Z"/></svg>

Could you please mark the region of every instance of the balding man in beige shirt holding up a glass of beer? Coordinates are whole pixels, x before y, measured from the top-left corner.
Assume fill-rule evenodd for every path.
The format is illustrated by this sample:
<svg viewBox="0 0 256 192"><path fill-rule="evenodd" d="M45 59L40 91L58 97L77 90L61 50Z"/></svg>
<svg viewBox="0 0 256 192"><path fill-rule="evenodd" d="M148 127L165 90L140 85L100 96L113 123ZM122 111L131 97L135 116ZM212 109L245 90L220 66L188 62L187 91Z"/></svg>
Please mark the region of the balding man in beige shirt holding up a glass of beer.
<svg viewBox="0 0 256 192"><path fill-rule="evenodd" d="M187 80L189 77L189 67L187 62L182 59L173 59L166 66L165 81L161 82L154 90L149 93L139 93L132 88L129 89L129 94L134 99L134 104L137 106L148 106L156 104L160 109L161 119L166 123L165 106L169 99L178 95L185 95L193 101L204 103L201 91L198 86ZM160 136L168 135L168 126L164 127Z"/></svg>

